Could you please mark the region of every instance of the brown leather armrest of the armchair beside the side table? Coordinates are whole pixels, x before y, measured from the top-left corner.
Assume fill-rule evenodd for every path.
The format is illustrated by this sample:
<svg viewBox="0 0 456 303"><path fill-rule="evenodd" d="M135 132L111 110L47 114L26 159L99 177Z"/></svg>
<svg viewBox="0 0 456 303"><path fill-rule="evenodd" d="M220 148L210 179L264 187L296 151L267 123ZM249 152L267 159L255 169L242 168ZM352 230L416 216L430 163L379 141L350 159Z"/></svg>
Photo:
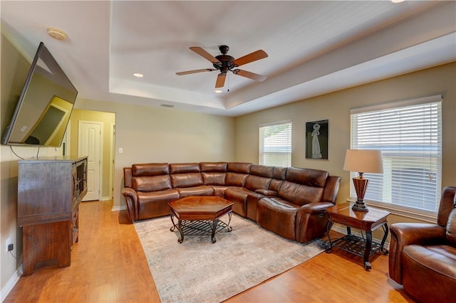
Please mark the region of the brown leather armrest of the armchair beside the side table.
<svg viewBox="0 0 456 303"><path fill-rule="evenodd" d="M432 223L394 223L390 226L391 242L388 267L390 278L402 285L401 257L405 245L445 243L445 228Z"/></svg>

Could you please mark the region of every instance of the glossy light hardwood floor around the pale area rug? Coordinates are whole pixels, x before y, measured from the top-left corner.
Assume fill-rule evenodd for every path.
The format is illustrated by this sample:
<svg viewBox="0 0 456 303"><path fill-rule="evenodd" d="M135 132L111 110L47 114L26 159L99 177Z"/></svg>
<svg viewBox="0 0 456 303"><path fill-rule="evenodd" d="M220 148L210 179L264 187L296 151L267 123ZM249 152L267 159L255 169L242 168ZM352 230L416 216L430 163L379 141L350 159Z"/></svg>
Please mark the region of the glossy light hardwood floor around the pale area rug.
<svg viewBox="0 0 456 303"><path fill-rule="evenodd" d="M160 302L133 224L111 208L112 201L81 203L71 266L21 277L4 302ZM414 302L388 277L388 256L372 267L366 272L361 257L334 249L227 302Z"/></svg>

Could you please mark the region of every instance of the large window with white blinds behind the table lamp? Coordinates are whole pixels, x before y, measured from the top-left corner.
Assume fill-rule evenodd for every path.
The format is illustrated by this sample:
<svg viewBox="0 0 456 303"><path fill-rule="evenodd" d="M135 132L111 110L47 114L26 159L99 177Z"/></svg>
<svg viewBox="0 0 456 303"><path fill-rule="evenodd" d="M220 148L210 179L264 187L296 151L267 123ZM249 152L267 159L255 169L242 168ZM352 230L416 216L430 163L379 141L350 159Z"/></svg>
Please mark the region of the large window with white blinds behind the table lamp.
<svg viewBox="0 0 456 303"><path fill-rule="evenodd" d="M351 110L351 148L382 153L383 174L364 174L369 179L367 200L416 213L437 212L442 166L440 95ZM351 186L351 196L356 196Z"/></svg>

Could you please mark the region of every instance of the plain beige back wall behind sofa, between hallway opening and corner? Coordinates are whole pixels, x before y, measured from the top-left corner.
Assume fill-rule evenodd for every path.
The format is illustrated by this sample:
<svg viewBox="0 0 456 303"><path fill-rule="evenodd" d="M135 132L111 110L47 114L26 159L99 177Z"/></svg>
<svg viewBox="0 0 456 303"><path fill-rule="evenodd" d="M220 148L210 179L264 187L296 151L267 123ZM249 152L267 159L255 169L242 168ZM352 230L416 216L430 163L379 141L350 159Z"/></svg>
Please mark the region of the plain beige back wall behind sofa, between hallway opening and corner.
<svg viewBox="0 0 456 303"><path fill-rule="evenodd" d="M234 118L83 99L76 107L115 113L114 208L124 206L125 166L234 160Z"/></svg>

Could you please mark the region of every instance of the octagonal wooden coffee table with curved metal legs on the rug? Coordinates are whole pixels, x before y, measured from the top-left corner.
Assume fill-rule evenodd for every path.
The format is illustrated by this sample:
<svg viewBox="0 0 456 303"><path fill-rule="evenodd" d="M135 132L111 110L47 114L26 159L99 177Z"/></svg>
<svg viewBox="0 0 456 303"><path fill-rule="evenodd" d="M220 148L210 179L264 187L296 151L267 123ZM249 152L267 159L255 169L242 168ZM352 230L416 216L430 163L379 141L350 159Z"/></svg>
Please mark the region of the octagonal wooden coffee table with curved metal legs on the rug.
<svg viewBox="0 0 456 303"><path fill-rule="evenodd" d="M171 231L179 230L179 243L184 240L186 235L202 235L211 233L212 243L216 243L215 233L227 228L227 231L232 231L229 226L232 217L232 206L234 203L225 200L218 196L190 196L181 198L168 203L171 208ZM224 223L219 218L228 214L229 221ZM177 218L177 224L174 218Z"/></svg>

